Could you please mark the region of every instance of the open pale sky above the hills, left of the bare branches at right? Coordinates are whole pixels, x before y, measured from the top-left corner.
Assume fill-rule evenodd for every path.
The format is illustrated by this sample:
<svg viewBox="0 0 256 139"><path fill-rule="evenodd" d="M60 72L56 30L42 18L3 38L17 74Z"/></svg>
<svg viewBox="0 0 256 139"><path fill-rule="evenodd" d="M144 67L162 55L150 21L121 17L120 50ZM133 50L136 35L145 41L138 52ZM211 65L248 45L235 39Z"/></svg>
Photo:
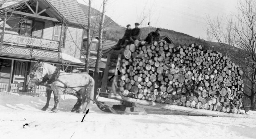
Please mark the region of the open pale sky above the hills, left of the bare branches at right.
<svg viewBox="0 0 256 139"><path fill-rule="evenodd" d="M77 1L88 5L88 0ZM92 0L92 7L98 10L102 2ZM106 15L117 24L131 24L132 28L143 17L147 18L142 26L148 26L150 17L150 26L206 38L206 16L230 16L236 6L236 0L108 0Z"/></svg>

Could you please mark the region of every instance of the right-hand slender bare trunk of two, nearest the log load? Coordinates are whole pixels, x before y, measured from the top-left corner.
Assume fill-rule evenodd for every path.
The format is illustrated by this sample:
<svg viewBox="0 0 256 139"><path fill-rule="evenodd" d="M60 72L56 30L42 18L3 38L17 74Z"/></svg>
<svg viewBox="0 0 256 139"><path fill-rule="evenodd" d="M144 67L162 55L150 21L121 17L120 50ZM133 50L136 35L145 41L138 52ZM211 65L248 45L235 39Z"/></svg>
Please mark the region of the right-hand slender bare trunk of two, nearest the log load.
<svg viewBox="0 0 256 139"><path fill-rule="evenodd" d="M104 26L104 20L105 20L105 6L106 6L107 0L103 0L103 9L102 9L102 15L101 15L101 21L100 21L100 31L99 31L99 43L98 43L98 50L97 50L97 59L95 63L95 69L94 69L94 75L93 79L95 81L95 87L94 87L94 100L96 99L97 96L97 89L99 87L98 84L98 78L99 78L99 70L100 70L100 57L102 55L102 33L103 33L103 26Z"/></svg>

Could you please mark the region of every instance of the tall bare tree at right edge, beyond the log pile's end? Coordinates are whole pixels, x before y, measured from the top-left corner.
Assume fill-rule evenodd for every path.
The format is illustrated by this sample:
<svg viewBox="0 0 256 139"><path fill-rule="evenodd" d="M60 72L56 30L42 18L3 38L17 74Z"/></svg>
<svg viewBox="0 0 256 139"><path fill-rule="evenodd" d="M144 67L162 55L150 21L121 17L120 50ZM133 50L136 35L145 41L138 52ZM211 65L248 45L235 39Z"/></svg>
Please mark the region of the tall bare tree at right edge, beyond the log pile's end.
<svg viewBox="0 0 256 139"><path fill-rule="evenodd" d="M244 50L244 70L247 81L251 84L247 86L251 92L244 95L251 100L251 106L255 104L255 84L256 84L256 1L241 1L237 7L238 14L234 14L237 22L232 25L235 31L235 44Z"/></svg>

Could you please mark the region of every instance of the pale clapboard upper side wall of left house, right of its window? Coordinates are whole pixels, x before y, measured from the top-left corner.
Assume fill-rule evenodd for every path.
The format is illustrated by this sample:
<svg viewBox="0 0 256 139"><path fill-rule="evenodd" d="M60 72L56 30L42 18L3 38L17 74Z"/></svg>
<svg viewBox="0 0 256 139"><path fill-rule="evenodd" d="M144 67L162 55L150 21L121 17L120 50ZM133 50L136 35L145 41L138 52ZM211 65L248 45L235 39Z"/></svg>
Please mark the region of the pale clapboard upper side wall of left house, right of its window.
<svg viewBox="0 0 256 139"><path fill-rule="evenodd" d="M62 53L79 59L81 55L81 41L83 40L82 36L83 29L68 26L65 38L65 48L62 48Z"/></svg>

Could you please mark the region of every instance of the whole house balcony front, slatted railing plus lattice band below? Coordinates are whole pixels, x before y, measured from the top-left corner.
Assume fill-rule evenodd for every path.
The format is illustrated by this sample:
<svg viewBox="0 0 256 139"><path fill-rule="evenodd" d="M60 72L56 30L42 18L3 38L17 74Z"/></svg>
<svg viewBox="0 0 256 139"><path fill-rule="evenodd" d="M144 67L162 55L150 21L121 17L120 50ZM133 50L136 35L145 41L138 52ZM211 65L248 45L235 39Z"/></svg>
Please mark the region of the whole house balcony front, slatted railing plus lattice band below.
<svg viewBox="0 0 256 139"><path fill-rule="evenodd" d="M57 61L60 58L60 42L4 33L0 54L4 56ZM55 51L54 51L55 50Z"/></svg>

